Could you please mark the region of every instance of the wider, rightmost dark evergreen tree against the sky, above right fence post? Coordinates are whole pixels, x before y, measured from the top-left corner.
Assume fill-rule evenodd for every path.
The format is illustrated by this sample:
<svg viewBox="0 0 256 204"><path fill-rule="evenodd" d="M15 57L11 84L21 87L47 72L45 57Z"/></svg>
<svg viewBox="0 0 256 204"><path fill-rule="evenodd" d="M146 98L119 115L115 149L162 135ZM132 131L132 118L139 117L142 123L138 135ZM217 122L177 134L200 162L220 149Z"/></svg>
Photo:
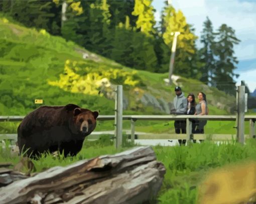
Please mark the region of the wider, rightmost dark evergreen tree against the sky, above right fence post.
<svg viewBox="0 0 256 204"><path fill-rule="evenodd" d="M233 77L236 76L237 78L239 75L233 73L234 69L236 69L235 64L238 63L237 58L233 56L233 47L240 40L235 37L235 31L226 24L220 26L217 30L216 37L216 50L214 54L217 57L217 63L212 79L219 90L234 95L235 82Z"/></svg>

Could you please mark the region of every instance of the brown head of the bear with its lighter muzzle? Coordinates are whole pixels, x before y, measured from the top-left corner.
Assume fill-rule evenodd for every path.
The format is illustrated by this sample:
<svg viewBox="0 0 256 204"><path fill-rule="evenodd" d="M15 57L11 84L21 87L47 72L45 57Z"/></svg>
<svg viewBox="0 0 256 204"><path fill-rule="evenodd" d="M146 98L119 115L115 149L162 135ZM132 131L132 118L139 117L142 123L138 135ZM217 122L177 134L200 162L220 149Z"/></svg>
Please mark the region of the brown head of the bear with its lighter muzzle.
<svg viewBox="0 0 256 204"><path fill-rule="evenodd" d="M73 124L76 133L83 136L89 135L96 127L96 118L99 113L84 108L75 108L73 110Z"/></svg>

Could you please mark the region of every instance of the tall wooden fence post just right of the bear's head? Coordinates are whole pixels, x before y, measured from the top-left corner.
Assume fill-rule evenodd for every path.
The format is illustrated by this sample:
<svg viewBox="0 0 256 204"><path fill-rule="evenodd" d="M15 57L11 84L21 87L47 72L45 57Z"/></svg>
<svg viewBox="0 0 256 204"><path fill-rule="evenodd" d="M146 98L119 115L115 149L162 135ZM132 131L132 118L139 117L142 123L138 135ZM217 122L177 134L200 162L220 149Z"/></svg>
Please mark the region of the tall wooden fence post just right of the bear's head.
<svg viewBox="0 0 256 204"><path fill-rule="evenodd" d="M122 85L117 85L115 92L115 148L120 148L122 146Z"/></svg>

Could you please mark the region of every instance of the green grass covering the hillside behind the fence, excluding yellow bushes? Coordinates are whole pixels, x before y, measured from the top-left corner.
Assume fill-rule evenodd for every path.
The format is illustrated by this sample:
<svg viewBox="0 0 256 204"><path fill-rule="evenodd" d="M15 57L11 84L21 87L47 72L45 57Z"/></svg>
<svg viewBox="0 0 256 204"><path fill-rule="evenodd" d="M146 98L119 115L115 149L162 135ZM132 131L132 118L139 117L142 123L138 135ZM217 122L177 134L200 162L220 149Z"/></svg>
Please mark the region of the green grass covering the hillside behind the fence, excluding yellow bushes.
<svg viewBox="0 0 256 204"><path fill-rule="evenodd" d="M0 31L2 34L0 36L0 93L2 95L0 115L25 115L38 107L34 104L37 98L43 99L46 105L76 103L100 110L101 114L113 114L113 100L90 94L71 93L49 85L48 81L60 79L66 60L77 61L81 69L76 70L76 74L80 77L84 76L87 68L95 72L112 68L129 73L134 69L121 66L96 54L93 56L93 53L61 37L8 22L1 14ZM83 52L89 54L87 59L82 58ZM175 96L173 90L176 85L165 85L164 79L168 78L168 73L157 74L138 70L136 77L140 80L136 87L145 94L149 94L155 100L162 98L167 103L173 101ZM123 84L120 80L110 80L116 84ZM234 97L205 86L199 81L180 77L177 84L183 87L185 95L189 92L197 94L199 91L204 91L210 104L210 114L227 114L225 109L228 109L230 104L234 104ZM137 108L136 99L139 96L137 97L133 91L136 87L128 86L124 90L124 95L129 99L129 106L124 110L124 114L163 114L152 105L139 104ZM217 107L217 102L224 104L226 108Z"/></svg>

